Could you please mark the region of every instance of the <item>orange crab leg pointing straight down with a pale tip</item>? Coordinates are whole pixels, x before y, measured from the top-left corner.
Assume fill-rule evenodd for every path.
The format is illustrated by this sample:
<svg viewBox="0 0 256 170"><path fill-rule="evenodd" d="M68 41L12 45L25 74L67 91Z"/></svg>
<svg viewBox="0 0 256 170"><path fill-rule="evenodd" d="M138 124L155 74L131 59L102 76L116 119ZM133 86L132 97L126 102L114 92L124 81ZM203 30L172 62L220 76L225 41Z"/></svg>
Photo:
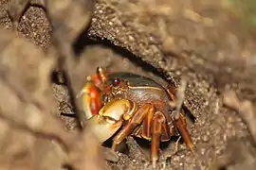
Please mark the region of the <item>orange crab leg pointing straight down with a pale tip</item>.
<svg viewBox="0 0 256 170"><path fill-rule="evenodd" d="M156 111L153 122L152 122L152 144L151 144L151 157L153 167L155 167L155 162L158 160L158 150L159 150L159 143L160 137L162 133L162 126L165 122L164 114L160 111Z"/></svg>

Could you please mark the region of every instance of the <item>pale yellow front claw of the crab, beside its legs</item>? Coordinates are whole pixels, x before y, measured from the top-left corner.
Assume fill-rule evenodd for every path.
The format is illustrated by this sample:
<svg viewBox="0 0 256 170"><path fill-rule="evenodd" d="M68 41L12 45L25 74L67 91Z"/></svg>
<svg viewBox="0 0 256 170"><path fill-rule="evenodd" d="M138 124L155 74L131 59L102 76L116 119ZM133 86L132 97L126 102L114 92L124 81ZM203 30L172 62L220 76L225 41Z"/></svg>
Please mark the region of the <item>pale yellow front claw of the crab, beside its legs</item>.
<svg viewBox="0 0 256 170"><path fill-rule="evenodd" d="M91 130L99 143L103 143L119 130L123 118L131 116L136 107L130 100L112 100L101 108L99 114L86 121L86 127Z"/></svg>

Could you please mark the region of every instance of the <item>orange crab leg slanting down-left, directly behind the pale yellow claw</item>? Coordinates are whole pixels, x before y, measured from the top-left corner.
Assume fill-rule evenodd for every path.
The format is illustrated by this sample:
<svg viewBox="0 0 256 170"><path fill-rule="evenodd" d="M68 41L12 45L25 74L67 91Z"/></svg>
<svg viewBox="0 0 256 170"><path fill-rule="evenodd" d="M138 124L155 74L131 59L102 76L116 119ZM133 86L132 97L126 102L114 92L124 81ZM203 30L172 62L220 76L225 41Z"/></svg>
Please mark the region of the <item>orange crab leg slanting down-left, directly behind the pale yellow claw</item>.
<svg viewBox="0 0 256 170"><path fill-rule="evenodd" d="M153 106L151 104L142 105L138 110L134 113L131 120L128 122L125 127L123 127L119 133L114 137L112 149L116 149L117 145L120 144L128 135L130 135L134 129L142 123L143 119L146 117L147 113Z"/></svg>

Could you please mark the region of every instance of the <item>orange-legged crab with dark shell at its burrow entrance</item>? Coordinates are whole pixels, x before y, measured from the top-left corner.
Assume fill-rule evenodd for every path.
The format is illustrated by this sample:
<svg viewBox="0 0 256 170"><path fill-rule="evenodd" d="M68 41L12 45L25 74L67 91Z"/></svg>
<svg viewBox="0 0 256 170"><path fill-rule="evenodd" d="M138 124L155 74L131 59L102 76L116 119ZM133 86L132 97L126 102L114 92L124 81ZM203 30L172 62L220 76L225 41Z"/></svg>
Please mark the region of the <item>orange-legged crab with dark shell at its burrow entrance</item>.
<svg viewBox="0 0 256 170"><path fill-rule="evenodd" d="M159 143L172 136L181 136L194 154L191 135L187 129L185 111L174 118L175 86L162 86L155 80L126 72L106 72L102 67L87 77L79 94L89 127L100 143L113 138L116 150L127 136L151 141L151 160L155 166Z"/></svg>

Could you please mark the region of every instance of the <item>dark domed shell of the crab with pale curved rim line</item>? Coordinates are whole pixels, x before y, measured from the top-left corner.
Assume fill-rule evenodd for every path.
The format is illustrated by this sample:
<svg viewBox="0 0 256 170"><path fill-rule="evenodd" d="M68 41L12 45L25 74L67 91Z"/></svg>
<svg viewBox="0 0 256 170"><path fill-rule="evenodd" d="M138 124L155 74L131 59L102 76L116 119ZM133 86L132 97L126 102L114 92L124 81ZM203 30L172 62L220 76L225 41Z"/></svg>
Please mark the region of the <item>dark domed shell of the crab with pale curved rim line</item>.
<svg viewBox="0 0 256 170"><path fill-rule="evenodd" d="M153 79L146 76L138 76L133 73L114 73L108 76L108 86L111 86L115 78L119 77L120 83L124 87L120 87L118 91L120 93L114 93L114 89L109 92L105 92L105 95L111 99L113 98L125 98L131 99L138 105L143 103L155 103L157 110L168 112L170 110L169 102L172 100L166 89L160 84L156 83ZM123 91L122 91L123 89ZM111 96L114 95L114 96Z"/></svg>

